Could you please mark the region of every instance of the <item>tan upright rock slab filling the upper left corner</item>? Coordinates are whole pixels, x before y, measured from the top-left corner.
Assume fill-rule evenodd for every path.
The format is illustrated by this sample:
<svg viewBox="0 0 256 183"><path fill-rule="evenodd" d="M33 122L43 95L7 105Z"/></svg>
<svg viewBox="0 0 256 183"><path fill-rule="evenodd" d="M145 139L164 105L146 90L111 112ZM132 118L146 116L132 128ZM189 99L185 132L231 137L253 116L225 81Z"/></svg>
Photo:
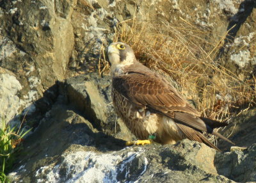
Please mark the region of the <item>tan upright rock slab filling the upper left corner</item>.
<svg viewBox="0 0 256 183"><path fill-rule="evenodd" d="M75 4L76 1L1 1L0 67L12 71L21 87L20 104L13 105L13 109L17 108L15 120L24 109L24 113L35 112L33 102L43 97L56 80L63 79L74 47L71 15ZM8 107L2 101L1 104ZM6 113L11 114L11 109Z"/></svg>

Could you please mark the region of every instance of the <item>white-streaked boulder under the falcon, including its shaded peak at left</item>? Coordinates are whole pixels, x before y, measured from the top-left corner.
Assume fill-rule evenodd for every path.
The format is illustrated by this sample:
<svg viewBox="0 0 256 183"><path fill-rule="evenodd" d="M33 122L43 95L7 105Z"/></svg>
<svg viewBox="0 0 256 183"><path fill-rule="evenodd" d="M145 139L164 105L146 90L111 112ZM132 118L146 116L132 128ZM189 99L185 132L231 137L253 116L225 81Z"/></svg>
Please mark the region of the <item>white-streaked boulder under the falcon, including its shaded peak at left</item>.
<svg viewBox="0 0 256 183"><path fill-rule="evenodd" d="M47 116L24 144L22 165L9 174L13 182L232 182L216 174L216 152L204 144L124 148L63 106Z"/></svg>

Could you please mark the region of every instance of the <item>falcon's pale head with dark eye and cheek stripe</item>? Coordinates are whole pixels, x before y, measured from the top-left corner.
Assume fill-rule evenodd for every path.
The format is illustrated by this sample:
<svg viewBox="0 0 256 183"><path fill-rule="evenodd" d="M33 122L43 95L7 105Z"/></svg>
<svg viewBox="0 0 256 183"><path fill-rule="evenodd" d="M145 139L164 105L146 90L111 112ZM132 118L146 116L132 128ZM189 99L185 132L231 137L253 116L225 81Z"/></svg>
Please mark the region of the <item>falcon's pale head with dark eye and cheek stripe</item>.
<svg viewBox="0 0 256 183"><path fill-rule="evenodd" d="M122 42L114 42L108 46L108 58L111 63L111 72L136 61L134 52L129 45Z"/></svg>

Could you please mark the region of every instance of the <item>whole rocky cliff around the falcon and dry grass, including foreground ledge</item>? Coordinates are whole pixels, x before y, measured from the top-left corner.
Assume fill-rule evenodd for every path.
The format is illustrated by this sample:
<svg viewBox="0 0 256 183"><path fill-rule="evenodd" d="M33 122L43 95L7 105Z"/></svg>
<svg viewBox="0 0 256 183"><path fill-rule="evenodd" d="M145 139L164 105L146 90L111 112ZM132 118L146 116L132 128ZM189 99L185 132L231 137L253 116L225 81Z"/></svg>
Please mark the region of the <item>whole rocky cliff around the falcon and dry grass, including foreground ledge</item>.
<svg viewBox="0 0 256 183"><path fill-rule="evenodd" d="M34 127L10 179L256 181L255 109L232 118L223 131L248 147L244 151L215 152L188 140L125 148L124 140L134 136L115 116L110 76L98 74L102 45L114 39L118 23L136 15L141 21L186 21L207 30L202 38L223 44L216 62L246 82L256 68L255 6L253 0L1 1L0 116L19 124L26 115L25 127ZM200 46L205 52L214 48ZM222 141L220 147L228 150Z"/></svg>

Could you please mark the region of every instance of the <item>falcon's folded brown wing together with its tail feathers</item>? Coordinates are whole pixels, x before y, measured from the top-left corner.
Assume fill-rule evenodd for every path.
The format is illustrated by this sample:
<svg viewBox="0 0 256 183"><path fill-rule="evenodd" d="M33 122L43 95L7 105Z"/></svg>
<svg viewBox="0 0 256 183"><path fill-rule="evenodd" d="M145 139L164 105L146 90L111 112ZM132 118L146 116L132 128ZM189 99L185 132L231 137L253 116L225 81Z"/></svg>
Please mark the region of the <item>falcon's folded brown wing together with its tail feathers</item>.
<svg viewBox="0 0 256 183"><path fill-rule="evenodd" d="M211 142L200 133L200 131L204 131L232 143L218 132L213 131L214 127L221 126L220 122L202 118L207 121L204 122L200 113L180 96L164 77L147 69L140 70L140 72L138 70L113 77L113 88L130 102L141 107L147 107L152 112L173 118L178 123L180 130L189 139L209 145ZM216 148L212 143L209 146Z"/></svg>

